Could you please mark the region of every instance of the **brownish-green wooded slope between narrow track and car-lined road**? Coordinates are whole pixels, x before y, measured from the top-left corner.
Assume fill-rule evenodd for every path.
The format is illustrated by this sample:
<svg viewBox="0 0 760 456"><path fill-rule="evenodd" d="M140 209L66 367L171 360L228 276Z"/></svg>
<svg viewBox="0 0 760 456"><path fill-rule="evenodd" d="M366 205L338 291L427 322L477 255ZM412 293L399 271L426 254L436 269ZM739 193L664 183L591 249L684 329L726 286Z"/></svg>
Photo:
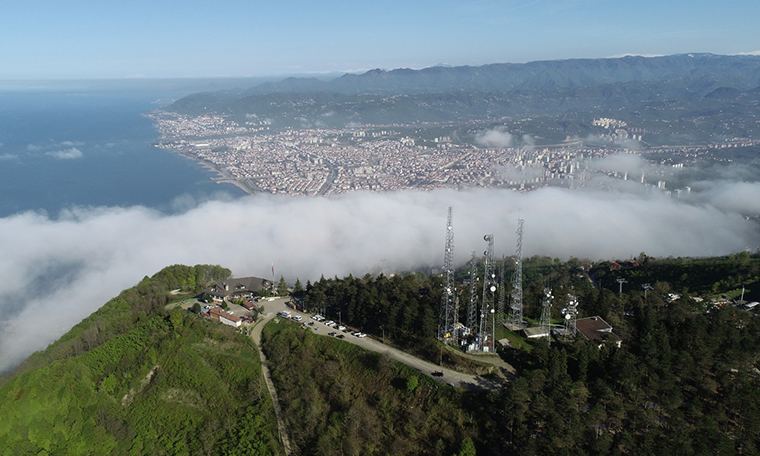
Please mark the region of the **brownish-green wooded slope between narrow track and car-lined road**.
<svg viewBox="0 0 760 456"><path fill-rule="evenodd" d="M387 356L285 321L266 326L264 350L300 454L451 455L489 440L473 418L485 398Z"/></svg>

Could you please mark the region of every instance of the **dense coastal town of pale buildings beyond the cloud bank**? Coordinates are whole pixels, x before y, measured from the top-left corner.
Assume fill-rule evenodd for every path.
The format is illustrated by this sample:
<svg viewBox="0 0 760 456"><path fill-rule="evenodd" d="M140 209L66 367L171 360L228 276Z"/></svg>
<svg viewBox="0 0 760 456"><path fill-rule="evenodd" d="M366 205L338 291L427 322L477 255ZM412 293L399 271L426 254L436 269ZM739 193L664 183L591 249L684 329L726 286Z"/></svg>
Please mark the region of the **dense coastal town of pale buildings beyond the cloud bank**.
<svg viewBox="0 0 760 456"><path fill-rule="evenodd" d="M476 187L527 191L550 185L584 187L598 173L669 191L665 175L589 169L590 159L641 152L620 144L641 141L642 131L615 119L594 121L601 131L601 145L567 138L556 145L499 147L400 132L409 132L399 128L408 126L270 129L271 121L255 116L236 122L220 115L156 111L149 117L161 134L157 147L202 163L219 173L220 181L248 193L318 196ZM669 147L658 153L675 157L661 164L678 168L704 157L711 148L743 146L743 141Z"/></svg>

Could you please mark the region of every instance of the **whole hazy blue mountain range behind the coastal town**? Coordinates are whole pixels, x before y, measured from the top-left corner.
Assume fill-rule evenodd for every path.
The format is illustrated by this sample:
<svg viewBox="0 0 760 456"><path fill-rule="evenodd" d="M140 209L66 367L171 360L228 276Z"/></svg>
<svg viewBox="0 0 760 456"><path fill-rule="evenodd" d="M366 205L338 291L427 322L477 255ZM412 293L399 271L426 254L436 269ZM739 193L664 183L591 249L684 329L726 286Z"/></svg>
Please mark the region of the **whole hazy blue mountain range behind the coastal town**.
<svg viewBox="0 0 760 456"><path fill-rule="evenodd" d="M255 116L275 127L340 127L578 113L683 119L716 107L744 115L758 106L760 56L679 54L287 78L193 94L165 109Z"/></svg>

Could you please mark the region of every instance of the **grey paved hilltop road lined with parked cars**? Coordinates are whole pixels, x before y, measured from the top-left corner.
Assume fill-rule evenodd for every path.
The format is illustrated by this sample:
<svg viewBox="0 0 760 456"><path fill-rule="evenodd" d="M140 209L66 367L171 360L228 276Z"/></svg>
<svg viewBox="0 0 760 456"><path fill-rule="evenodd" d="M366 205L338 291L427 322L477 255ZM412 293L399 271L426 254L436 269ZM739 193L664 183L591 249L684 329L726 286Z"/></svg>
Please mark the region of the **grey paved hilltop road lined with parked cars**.
<svg viewBox="0 0 760 456"><path fill-rule="evenodd" d="M433 364L433 363L421 360L401 350L385 345L381 341L375 340L371 337L359 338L352 335L351 333L344 333L344 332L338 331L335 328L326 326L324 323L319 323L312 320L310 314L301 313L296 310L288 308L285 305L285 302L286 302L285 298L279 298L274 301L265 302L264 308L267 312L267 319L272 318L277 312L280 312L283 310L289 310L291 312L291 315L301 315L301 317L303 318L301 323L303 323L303 325L306 328L308 328L309 330L313 331L316 334L320 334L325 337L331 337L331 336L327 336L327 334L331 332L336 332L337 334L343 334L345 336L345 338L343 339L344 341L366 348L367 350L372 350L377 353L388 355L390 358L395 359L396 361L399 361L401 363L404 363L409 367L417 369L421 373L441 383L446 383L449 385L459 386L461 388L477 390L477 391L495 390L495 389L498 389L500 386L498 382L493 381L491 379L486 379L483 377L470 375L470 374L463 374L453 369L449 369L447 367L439 366L437 364ZM308 323L310 322L313 322L314 324L309 326ZM261 327L263 327L263 324L257 323L256 328L254 329L254 331L258 330L259 338L261 336L261 329L260 329ZM482 359L481 361L489 362L488 359ZM499 363L504 364L504 362L501 359L498 359L498 361ZM511 366L509 366L509 368L511 369ZM434 377L432 375L433 372L443 372L443 376Z"/></svg>

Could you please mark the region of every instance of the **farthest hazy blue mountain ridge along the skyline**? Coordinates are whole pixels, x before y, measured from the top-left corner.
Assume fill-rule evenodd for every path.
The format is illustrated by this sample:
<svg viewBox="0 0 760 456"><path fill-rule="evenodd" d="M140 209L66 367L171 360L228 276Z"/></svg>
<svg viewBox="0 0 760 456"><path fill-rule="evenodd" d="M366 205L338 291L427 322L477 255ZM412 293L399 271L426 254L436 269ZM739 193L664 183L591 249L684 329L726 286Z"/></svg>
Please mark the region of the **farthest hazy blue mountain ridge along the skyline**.
<svg viewBox="0 0 760 456"><path fill-rule="evenodd" d="M288 78L251 88L248 95L332 92L341 94L417 94L449 91L507 93L565 89L629 82L708 84L750 89L760 86L760 57L678 54L606 59L546 60L483 66L436 66L421 70L375 69L330 81Z"/></svg>

